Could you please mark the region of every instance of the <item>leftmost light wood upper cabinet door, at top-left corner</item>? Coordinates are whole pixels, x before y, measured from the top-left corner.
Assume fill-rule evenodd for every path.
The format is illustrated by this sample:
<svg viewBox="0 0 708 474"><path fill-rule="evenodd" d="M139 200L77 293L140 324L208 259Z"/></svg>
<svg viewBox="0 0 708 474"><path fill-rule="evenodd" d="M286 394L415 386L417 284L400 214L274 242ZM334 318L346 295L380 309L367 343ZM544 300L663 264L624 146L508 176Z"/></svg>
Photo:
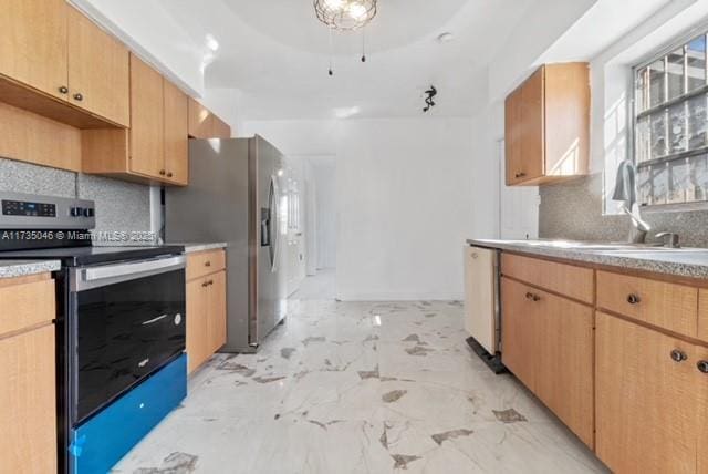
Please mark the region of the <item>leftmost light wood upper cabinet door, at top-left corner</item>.
<svg viewBox="0 0 708 474"><path fill-rule="evenodd" d="M67 100L67 8L64 0L4 0L0 73Z"/></svg>

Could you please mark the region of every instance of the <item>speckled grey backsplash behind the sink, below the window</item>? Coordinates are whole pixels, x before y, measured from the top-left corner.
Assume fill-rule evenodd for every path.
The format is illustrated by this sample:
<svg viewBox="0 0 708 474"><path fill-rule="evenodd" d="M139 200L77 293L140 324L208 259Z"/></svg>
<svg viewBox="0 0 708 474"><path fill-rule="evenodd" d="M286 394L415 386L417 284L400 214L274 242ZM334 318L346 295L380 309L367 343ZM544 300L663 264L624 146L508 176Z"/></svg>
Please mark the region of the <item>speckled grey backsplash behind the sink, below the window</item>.
<svg viewBox="0 0 708 474"><path fill-rule="evenodd" d="M603 216L602 174L542 186L539 237L572 240L625 241L629 235L627 216ZM686 247L708 247L708 210L649 213L642 217L652 226L652 237L660 231L680 236ZM652 238L649 237L649 238Z"/></svg>

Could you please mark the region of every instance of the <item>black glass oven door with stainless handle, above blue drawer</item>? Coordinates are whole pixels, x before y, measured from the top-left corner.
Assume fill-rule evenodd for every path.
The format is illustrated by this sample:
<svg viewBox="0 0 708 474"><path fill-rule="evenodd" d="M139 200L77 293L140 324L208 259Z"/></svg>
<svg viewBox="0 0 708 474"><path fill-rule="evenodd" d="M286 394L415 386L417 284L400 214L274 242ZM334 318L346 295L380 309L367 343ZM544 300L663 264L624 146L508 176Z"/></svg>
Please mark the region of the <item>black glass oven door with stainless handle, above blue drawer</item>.
<svg viewBox="0 0 708 474"><path fill-rule="evenodd" d="M185 350L185 258L72 270L73 424Z"/></svg>

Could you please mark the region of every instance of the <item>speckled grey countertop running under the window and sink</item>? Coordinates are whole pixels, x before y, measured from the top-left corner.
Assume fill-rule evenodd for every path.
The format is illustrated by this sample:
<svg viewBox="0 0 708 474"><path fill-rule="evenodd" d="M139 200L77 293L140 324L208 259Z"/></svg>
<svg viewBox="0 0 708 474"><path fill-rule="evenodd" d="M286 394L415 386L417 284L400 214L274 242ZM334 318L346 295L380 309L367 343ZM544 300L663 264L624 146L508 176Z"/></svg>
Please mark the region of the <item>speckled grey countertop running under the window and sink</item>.
<svg viewBox="0 0 708 474"><path fill-rule="evenodd" d="M503 240L468 239L467 244L607 267L629 268L633 270L644 270L678 277L708 279L708 265L701 264L665 261L650 258L632 258L626 256L607 255L593 250L584 250L581 248L552 248L539 245L524 245L520 243L504 243Z"/></svg>

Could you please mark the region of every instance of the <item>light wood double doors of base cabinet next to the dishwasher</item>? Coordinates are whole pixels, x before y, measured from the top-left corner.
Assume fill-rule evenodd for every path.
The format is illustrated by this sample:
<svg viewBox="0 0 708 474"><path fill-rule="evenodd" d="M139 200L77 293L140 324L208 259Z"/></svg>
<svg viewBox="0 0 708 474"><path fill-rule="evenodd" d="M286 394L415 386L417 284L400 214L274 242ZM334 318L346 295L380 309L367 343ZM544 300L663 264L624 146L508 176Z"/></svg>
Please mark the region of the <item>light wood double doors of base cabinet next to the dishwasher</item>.
<svg viewBox="0 0 708 474"><path fill-rule="evenodd" d="M593 447L593 309L502 279L502 361Z"/></svg>

